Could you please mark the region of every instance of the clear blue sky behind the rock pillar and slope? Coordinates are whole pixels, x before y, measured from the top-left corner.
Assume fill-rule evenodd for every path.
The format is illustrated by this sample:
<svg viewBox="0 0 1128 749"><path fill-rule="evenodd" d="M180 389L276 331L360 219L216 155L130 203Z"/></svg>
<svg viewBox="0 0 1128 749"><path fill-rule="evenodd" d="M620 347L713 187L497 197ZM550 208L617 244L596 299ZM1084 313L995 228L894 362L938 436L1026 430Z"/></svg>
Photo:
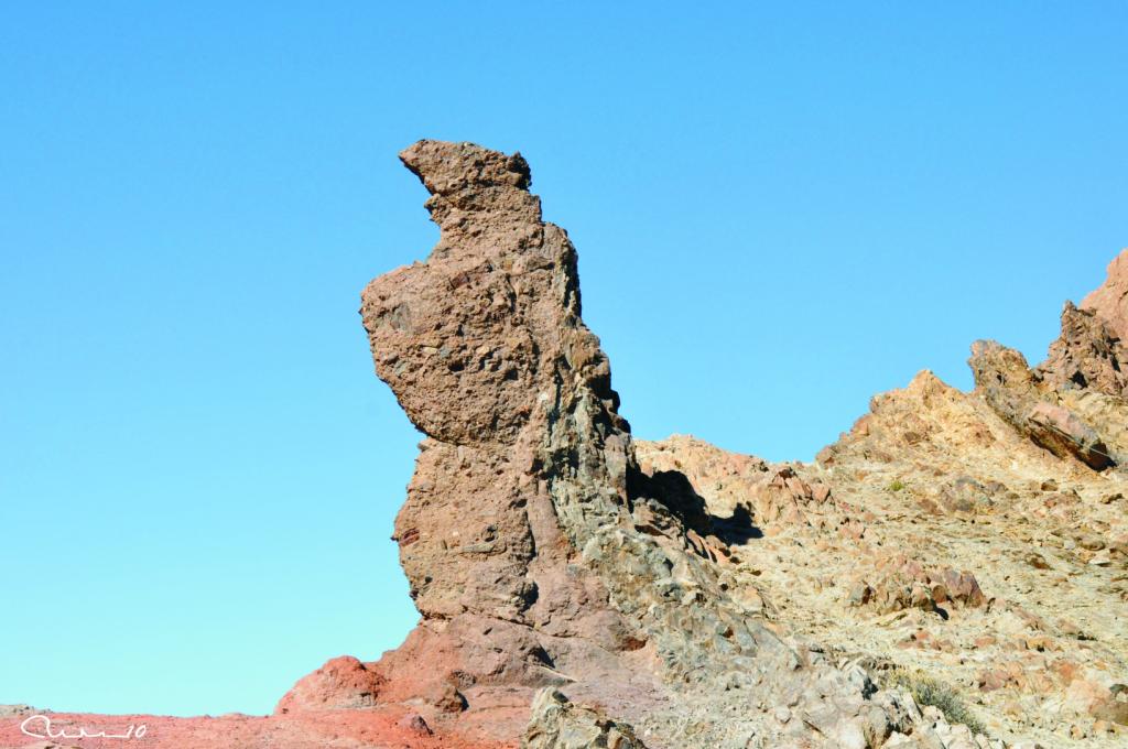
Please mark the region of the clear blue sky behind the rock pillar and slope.
<svg viewBox="0 0 1128 749"><path fill-rule="evenodd" d="M1040 360L1128 245L1128 6L751 6L2 3L0 703L263 713L399 643L356 309L437 238L420 138L528 158L638 437L810 459Z"/></svg>

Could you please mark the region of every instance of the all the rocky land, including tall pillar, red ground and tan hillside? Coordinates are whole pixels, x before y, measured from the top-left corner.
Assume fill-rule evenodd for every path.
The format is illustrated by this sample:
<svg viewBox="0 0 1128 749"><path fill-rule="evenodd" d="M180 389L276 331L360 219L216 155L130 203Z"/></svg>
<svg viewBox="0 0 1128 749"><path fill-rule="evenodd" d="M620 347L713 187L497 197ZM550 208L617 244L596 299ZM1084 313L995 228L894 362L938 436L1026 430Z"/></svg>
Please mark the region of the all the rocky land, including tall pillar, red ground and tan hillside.
<svg viewBox="0 0 1128 749"><path fill-rule="evenodd" d="M1128 253L1041 364L976 342L972 393L920 372L814 462L773 465L633 439L520 155L400 158L441 238L361 315L424 434L394 537L418 625L272 716L56 725L146 722L129 743L153 747L1128 743ZM33 713L0 744L47 746L19 731Z"/></svg>

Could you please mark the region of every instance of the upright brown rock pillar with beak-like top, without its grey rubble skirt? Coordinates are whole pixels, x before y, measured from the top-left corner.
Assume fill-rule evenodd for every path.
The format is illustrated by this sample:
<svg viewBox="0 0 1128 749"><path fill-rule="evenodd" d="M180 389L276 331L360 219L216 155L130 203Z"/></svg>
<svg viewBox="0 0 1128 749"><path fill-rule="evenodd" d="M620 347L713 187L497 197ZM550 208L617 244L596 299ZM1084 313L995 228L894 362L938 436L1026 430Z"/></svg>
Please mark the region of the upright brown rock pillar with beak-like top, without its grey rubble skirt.
<svg viewBox="0 0 1128 749"><path fill-rule="evenodd" d="M377 373L428 435L395 532L423 622L381 668L402 698L449 703L453 686L472 706L474 689L622 668L610 654L643 636L575 557L622 520L633 456L575 250L519 155L422 141L400 158L442 235L361 309Z"/></svg>

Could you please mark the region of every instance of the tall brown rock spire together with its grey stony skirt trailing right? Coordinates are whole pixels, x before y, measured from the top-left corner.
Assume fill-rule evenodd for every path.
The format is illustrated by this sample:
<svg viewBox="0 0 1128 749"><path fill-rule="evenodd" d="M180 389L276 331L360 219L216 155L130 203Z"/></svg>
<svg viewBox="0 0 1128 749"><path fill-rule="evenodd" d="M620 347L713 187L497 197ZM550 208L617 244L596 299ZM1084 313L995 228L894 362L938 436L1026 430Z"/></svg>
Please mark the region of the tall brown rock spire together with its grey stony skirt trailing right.
<svg viewBox="0 0 1128 749"><path fill-rule="evenodd" d="M732 519L677 472L640 468L580 316L575 250L541 221L520 155L422 141L400 158L442 233L426 262L363 294L377 373L426 434L395 536L423 619L373 666L381 694L466 725L556 687L635 724L650 747L704 747L782 735L746 703L790 690L821 716L791 733L826 742L858 723L880 743L888 721L867 695L726 590L717 557ZM466 703L453 714L451 686ZM741 710L719 720L725 695ZM689 734L671 728L687 722Z"/></svg>

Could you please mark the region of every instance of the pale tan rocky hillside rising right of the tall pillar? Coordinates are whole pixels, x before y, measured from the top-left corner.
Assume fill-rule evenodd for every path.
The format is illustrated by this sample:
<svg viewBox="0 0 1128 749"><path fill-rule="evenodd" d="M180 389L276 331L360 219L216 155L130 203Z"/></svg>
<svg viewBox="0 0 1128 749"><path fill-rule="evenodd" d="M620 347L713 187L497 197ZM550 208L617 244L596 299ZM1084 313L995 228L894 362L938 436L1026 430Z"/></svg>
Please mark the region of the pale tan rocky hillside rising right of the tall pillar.
<svg viewBox="0 0 1128 749"><path fill-rule="evenodd" d="M684 437L641 464L756 525L732 574L786 631L878 684L940 680L992 735L1126 746L1126 289L1128 250L1042 364L976 342L975 391L920 372L814 464Z"/></svg>

